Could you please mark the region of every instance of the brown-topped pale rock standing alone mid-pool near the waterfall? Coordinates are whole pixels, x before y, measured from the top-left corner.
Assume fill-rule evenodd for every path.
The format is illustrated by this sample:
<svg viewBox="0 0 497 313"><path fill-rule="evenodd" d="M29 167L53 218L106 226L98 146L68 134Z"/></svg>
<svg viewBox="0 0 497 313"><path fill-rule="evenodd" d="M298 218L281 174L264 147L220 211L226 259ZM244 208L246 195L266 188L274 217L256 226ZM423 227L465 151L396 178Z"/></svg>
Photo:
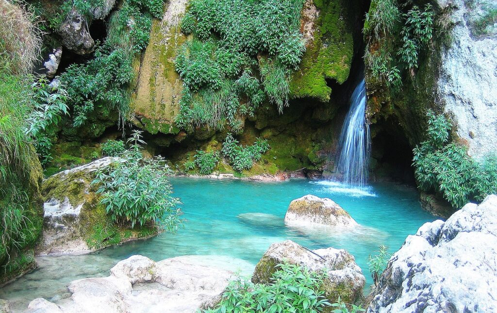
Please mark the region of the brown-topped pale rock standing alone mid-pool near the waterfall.
<svg viewBox="0 0 497 313"><path fill-rule="evenodd" d="M285 214L287 224L321 224L356 227L359 224L339 205L328 198L307 195L290 203Z"/></svg>

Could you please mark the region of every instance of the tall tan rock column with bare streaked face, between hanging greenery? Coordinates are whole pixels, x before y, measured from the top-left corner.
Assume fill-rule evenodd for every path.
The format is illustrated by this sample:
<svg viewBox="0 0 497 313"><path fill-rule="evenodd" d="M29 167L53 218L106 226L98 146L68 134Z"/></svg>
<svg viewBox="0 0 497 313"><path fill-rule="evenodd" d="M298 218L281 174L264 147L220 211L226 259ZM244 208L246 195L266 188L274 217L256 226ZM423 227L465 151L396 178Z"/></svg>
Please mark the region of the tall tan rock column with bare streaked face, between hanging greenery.
<svg viewBox="0 0 497 313"><path fill-rule="evenodd" d="M183 86L174 68L174 52L186 40L179 22L187 2L168 2L162 20L153 22L145 54L136 62L137 82L131 101L134 123L152 134L179 132L174 119Z"/></svg>

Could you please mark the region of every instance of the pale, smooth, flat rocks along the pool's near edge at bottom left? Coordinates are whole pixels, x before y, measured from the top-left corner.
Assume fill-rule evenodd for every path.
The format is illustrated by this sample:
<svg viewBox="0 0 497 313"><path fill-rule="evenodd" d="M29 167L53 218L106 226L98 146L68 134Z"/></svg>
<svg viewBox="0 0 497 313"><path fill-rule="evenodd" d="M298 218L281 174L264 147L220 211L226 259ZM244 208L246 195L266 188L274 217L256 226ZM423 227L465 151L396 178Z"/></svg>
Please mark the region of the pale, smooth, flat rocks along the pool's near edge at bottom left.
<svg viewBox="0 0 497 313"><path fill-rule="evenodd" d="M31 312L195 312L228 286L232 272L189 263L185 257L155 262L133 255L117 263L110 276L69 285L71 298L57 305L45 299ZM38 311L36 311L38 310Z"/></svg>

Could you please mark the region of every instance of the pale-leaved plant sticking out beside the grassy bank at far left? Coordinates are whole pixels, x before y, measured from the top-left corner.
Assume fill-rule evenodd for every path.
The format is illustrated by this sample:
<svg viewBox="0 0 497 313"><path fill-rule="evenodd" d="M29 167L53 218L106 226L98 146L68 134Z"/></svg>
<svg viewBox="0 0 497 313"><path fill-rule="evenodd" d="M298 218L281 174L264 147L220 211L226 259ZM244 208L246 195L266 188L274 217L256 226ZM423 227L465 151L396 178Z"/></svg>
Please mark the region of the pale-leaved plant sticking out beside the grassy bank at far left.
<svg viewBox="0 0 497 313"><path fill-rule="evenodd" d="M29 115L28 134L31 136L40 157L42 165L52 160L52 133L62 115L69 114L66 104L68 94L63 84L51 87L44 77L38 78L31 86L31 93L27 96L33 111Z"/></svg>

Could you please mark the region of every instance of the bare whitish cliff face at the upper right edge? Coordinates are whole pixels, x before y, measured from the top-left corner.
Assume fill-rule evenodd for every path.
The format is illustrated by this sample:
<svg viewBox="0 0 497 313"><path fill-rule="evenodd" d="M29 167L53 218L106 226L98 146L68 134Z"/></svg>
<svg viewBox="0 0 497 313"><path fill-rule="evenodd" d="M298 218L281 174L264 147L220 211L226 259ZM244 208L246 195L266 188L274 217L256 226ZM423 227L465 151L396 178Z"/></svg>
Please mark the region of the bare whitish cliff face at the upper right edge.
<svg viewBox="0 0 497 313"><path fill-rule="evenodd" d="M444 111L457 123L457 135L478 158L497 146L497 33L474 34L473 23L484 14L481 7L492 1L477 2L470 6L464 0L438 0L441 7L453 7L454 26L452 43L442 53L436 91Z"/></svg>

